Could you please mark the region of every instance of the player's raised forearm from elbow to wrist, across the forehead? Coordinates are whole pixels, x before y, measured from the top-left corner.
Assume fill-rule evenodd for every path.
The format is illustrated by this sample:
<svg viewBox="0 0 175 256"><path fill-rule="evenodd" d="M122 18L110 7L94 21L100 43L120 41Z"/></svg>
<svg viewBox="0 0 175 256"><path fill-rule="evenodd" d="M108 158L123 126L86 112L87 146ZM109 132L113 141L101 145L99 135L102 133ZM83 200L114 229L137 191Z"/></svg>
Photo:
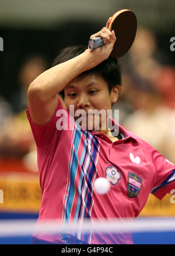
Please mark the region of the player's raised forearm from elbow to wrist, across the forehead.
<svg viewBox="0 0 175 256"><path fill-rule="evenodd" d="M90 50L86 50L79 56L44 71L30 84L28 92L34 90L43 100L48 100L60 93L76 76L94 66L94 57Z"/></svg>

